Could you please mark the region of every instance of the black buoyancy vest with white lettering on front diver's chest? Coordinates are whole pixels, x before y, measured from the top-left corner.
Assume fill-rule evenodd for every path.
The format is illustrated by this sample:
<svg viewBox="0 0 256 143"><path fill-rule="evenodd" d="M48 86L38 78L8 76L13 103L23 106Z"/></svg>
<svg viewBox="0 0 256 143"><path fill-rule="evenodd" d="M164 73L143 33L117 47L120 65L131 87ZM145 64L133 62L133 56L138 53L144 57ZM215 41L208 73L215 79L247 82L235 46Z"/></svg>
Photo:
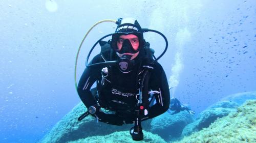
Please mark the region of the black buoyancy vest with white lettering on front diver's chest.
<svg viewBox="0 0 256 143"><path fill-rule="evenodd" d="M116 60L116 53L110 48L110 42L101 41L101 57L104 61ZM117 66L105 67L101 80L97 82L98 103L101 107L116 112L131 112L135 109L140 79L143 75L142 65L154 61L154 50L145 42L144 50L135 59L136 64L129 73L121 72ZM137 98L136 98L137 97Z"/></svg>

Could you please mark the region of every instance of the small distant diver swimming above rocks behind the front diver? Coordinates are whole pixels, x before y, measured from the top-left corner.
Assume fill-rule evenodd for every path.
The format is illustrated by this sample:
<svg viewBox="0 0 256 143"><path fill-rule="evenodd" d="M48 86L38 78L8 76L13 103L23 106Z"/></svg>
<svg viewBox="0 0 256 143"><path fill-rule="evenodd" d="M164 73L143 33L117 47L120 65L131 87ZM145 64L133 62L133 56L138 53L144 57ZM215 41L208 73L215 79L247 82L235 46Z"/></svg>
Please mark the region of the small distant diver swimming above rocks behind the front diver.
<svg viewBox="0 0 256 143"><path fill-rule="evenodd" d="M172 97L170 99L170 106L169 106L168 112L171 115L174 115L174 114L179 113L180 111L184 111L184 110L188 111L190 113L190 115L195 114L195 112L193 110L188 108L186 105L181 104L177 98Z"/></svg>

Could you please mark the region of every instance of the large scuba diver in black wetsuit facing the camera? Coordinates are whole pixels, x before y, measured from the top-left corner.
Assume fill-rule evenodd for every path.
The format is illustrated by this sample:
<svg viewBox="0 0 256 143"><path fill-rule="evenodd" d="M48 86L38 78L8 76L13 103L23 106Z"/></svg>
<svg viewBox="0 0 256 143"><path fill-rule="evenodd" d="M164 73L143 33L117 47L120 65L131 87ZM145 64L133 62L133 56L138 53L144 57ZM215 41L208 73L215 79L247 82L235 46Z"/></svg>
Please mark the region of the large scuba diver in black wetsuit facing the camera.
<svg viewBox="0 0 256 143"><path fill-rule="evenodd" d="M152 119L169 108L167 78L158 59L154 60L154 50L143 38L144 29L134 18L119 18L117 24L111 40L99 41L101 53L89 64L95 66L88 66L81 75L77 92L88 112L78 120L90 114L99 122L121 126ZM108 61L117 62L97 65ZM96 89L91 89L95 82ZM156 99L154 104L151 95ZM137 126L142 129L140 123ZM136 136L139 131L134 132Z"/></svg>

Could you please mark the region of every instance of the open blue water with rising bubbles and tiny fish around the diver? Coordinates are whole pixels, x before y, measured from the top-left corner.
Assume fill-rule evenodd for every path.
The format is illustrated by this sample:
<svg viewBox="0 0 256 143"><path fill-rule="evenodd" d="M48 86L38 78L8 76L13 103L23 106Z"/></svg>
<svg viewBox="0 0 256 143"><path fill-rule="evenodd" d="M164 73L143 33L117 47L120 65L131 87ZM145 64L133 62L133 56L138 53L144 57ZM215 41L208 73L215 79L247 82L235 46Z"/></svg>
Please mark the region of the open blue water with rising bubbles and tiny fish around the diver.
<svg viewBox="0 0 256 143"><path fill-rule="evenodd" d="M159 63L171 96L196 116L228 95L256 91L253 0L3 0L0 11L0 142L40 141L80 102L74 85L77 50L89 28L103 19L134 17L166 36L169 46ZM84 41L77 81L93 44L115 27L99 24ZM156 56L164 50L159 35L144 37Z"/></svg>

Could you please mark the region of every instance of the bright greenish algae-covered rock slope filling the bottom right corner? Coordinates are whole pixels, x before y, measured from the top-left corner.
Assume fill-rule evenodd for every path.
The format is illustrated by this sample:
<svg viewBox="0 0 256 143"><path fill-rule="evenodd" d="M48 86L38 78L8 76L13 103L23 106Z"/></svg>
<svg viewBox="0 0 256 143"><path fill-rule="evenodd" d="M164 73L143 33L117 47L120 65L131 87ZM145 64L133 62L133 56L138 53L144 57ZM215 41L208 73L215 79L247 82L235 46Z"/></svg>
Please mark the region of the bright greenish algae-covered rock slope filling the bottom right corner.
<svg viewBox="0 0 256 143"><path fill-rule="evenodd" d="M208 128L184 137L184 142L256 142L256 100L249 100ZM178 143L177 142L177 143Z"/></svg>

